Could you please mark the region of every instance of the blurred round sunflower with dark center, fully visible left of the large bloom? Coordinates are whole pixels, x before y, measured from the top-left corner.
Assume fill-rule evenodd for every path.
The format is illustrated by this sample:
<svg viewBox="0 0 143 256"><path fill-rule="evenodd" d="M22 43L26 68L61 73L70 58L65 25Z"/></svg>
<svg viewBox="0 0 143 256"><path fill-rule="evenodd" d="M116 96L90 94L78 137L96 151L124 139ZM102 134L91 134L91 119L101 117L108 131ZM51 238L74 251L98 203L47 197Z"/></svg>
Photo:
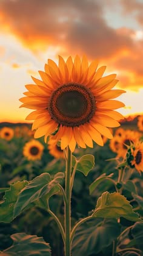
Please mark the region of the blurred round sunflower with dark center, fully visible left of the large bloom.
<svg viewBox="0 0 143 256"><path fill-rule="evenodd" d="M41 159L43 150L44 146L39 141L31 140L25 143L23 154L28 160L37 160Z"/></svg>

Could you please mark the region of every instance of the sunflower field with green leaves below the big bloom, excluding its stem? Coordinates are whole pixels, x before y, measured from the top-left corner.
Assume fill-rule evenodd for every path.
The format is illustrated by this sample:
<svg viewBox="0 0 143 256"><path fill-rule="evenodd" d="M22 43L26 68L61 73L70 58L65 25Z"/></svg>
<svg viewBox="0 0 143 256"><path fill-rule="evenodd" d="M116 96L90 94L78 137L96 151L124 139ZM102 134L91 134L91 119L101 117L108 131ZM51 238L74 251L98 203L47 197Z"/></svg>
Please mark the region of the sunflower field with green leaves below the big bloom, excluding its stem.
<svg viewBox="0 0 143 256"><path fill-rule="evenodd" d="M71 255L142 255L142 121L143 116L136 116L110 129L113 138L103 136L104 147L96 143L93 149L76 147L71 228L86 221L74 233ZM57 216L64 226L64 202L58 190L59 182L64 187L64 151L58 144L52 146L50 137L47 144L43 138L35 139L31 124L1 124L0 137L1 254L64 255L55 221ZM47 179L56 186L48 180L48 204L55 216L45 205ZM21 197L27 186L32 194Z"/></svg>

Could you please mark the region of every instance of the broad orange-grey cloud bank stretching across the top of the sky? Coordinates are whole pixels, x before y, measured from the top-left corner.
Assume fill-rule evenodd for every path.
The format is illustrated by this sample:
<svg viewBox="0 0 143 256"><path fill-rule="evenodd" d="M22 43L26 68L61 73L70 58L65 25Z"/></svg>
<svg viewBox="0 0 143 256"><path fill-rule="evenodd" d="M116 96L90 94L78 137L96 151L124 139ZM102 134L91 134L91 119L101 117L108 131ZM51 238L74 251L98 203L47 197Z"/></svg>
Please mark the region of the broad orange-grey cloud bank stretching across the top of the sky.
<svg viewBox="0 0 143 256"><path fill-rule="evenodd" d="M143 84L143 42L135 40L134 30L108 26L104 18L105 5L112 8L113 2L1 0L1 28L8 26L29 49L37 47L38 50L39 46L48 48L52 45L61 46L64 55L85 53L89 59L105 60L113 69L138 75ZM143 4L135 0L119 0L118 3L122 5L124 15L136 10L139 19ZM122 84L135 86L130 77L126 77Z"/></svg>

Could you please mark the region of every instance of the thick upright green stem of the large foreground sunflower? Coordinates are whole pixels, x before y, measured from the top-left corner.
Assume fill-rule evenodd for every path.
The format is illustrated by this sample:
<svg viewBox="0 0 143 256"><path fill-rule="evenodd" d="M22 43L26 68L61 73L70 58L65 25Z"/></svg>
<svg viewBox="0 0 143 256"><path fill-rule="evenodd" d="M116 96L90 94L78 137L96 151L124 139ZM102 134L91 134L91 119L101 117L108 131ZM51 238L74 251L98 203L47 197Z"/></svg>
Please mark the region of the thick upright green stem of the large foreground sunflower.
<svg viewBox="0 0 143 256"><path fill-rule="evenodd" d="M71 255L71 243L70 243L70 231L71 231L71 190L70 190L70 179L71 179L71 161L72 152L67 147L67 159L65 169L65 196L67 201L65 202L65 256Z"/></svg>

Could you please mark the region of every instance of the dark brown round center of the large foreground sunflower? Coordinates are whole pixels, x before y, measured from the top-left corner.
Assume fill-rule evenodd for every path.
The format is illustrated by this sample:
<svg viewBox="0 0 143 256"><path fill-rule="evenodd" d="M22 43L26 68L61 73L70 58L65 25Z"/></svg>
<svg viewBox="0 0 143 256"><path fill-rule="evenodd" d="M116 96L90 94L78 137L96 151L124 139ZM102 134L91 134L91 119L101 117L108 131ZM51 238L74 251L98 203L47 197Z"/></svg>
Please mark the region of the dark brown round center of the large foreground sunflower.
<svg viewBox="0 0 143 256"><path fill-rule="evenodd" d="M53 91L48 102L52 118L64 126L80 126L88 122L95 113L95 97L90 89L81 84L61 85Z"/></svg>

